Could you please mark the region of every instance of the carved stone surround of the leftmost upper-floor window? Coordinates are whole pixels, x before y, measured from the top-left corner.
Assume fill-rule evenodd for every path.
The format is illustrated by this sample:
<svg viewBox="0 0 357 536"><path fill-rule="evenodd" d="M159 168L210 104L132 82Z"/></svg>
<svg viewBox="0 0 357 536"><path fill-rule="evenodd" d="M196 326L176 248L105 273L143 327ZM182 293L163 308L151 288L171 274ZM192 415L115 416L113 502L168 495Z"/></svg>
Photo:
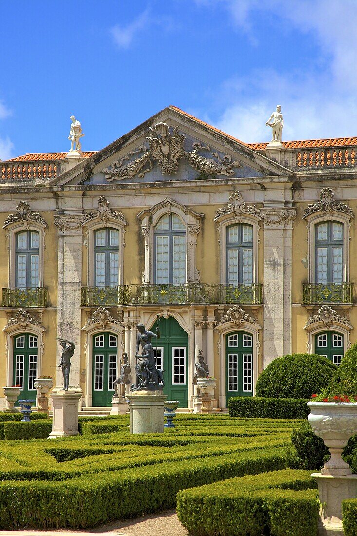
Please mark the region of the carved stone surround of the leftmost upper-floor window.
<svg viewBox="0 0 357 536"><path fill-rule="evenodd" d="M25 231L32 230L39 233L39 288L43 287L43 269L44 269L44 237L46 236L45 229L47 227L46 221L38 212L33 212L29 208L29 204L26 201L21 201L16 206L16 211L13 214L9 214L3 225L3 229L6 229L6 237L8 239L9 250L9 288L15 287L16 280L16 234Z"/></svg>

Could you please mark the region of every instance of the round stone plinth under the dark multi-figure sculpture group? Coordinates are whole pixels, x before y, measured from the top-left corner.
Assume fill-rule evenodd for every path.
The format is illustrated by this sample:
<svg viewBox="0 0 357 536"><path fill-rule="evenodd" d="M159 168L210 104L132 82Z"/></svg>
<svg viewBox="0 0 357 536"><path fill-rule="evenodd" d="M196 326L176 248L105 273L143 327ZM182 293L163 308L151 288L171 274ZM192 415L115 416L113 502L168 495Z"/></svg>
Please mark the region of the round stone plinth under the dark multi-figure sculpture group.
<svg viewBox="0 0 357 536"><path fill-rule="evenodd" d="M166 394L162 394L161 390L130 393L130 434L162 434L163 404L166 398Z"/></svg>

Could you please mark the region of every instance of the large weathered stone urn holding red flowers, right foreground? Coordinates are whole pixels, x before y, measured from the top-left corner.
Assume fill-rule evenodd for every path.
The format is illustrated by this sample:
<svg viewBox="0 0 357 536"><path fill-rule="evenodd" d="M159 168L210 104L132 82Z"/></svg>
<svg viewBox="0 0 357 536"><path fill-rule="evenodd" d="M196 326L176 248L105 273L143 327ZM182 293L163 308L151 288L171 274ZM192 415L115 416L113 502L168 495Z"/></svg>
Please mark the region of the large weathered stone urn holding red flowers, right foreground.
<svg viewBox="0 0 357 536"><path fill-rule="evenodd" d="M309 423L331 452L322 474L347 475L352 471L341 454L349 438L357 434L357 404L309 402Z"/></svg>

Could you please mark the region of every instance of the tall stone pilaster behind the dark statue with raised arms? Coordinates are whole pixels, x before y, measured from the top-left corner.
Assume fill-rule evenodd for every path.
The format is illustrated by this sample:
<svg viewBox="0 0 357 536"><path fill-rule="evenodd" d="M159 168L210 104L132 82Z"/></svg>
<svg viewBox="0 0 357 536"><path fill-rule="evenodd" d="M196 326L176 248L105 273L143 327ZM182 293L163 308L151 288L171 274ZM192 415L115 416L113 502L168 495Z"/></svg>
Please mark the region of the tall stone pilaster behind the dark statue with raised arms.
<svg viewBox="0 0 357 536"><path fill-rule="evenodd" d="M57 337L68 339L76 345L71 358L70 388L79 388L83 216L64 214L56 216L54 222L58 227ZM61 347L58 344L57 363L60 355ZM56 370L56 386L62 387L62 370Z"/></svg>

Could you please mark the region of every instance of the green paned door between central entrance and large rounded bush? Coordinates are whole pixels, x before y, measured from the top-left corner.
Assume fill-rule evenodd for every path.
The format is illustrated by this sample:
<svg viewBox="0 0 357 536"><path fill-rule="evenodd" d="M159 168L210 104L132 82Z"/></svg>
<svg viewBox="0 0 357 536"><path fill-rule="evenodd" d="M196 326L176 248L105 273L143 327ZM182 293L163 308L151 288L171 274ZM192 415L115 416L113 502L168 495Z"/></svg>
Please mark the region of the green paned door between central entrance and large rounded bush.
<svg viewBox="0 0 357 536"><path fill-rule="evenodd" d="M226 404L230 397L253 395L253 337L237 331L226 335Z"/></svg>

